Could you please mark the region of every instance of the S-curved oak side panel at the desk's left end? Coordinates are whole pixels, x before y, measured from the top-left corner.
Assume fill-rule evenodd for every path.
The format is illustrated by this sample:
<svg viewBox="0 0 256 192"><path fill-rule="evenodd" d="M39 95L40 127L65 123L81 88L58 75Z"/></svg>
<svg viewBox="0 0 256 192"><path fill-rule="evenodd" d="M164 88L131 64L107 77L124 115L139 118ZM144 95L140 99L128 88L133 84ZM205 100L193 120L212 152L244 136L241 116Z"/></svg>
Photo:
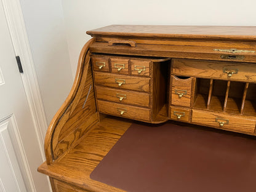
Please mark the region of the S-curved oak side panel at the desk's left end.
<svg viewBox="0 0 256 192"><path fill-rule="evenodd" d="M89 52L93 42L94 38L82 48L70 94L50 122L44 142L47 164L68 151L98 121Z"/></svg>

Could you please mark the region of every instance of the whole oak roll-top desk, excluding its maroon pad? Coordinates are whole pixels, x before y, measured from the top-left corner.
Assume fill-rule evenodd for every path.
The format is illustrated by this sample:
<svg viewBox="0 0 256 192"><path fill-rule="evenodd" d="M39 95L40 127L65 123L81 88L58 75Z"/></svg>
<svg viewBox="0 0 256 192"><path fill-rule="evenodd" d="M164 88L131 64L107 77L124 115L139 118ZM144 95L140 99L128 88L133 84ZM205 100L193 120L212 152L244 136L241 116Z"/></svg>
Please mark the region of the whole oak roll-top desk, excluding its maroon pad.
<svg viewBox="0 0 256 192"><path fill-rule="evenodd" d="M133 120L256 135L256 26L111 25L87 34L38 168L54 191L122 191L89 175Z"/></svg>

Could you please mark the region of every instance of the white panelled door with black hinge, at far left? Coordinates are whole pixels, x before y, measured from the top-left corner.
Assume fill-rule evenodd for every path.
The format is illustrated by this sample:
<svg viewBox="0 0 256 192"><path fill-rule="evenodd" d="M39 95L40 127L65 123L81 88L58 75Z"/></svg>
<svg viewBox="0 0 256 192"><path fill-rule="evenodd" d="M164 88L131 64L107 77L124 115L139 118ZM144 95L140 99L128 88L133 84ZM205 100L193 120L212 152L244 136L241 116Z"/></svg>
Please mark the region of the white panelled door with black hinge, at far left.
<svg viewBox="0 0 256 192"><path fill-rule="evenodd" d="M0 192L50 191L33 125L0 2Z"/></svg>

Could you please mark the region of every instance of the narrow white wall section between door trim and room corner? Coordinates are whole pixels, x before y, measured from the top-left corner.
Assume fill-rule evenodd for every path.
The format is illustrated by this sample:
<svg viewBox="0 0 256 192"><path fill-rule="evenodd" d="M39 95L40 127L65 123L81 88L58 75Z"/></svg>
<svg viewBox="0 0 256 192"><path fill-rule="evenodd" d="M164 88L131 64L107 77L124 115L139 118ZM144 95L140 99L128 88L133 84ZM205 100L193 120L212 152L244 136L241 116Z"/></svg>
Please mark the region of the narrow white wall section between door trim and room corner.
<svg viewBox="0 0 256 192"><path fill-rule="evenodd" d="M61 0L20 0L48 124L73 84Z"/></svg>

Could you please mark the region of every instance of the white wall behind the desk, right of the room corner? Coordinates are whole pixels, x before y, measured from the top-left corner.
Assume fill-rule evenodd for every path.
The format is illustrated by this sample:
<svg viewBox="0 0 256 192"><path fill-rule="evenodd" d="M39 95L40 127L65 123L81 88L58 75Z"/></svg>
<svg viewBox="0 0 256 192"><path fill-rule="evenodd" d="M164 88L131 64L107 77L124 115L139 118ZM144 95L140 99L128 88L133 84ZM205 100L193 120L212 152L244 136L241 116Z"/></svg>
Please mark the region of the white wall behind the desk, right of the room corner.
<svg viewBox="0 0 256 192"><path fill-rule="evenodd" d="M256 25L255 0L62 0L73 74L85 32L106 25Z"/></svg>

